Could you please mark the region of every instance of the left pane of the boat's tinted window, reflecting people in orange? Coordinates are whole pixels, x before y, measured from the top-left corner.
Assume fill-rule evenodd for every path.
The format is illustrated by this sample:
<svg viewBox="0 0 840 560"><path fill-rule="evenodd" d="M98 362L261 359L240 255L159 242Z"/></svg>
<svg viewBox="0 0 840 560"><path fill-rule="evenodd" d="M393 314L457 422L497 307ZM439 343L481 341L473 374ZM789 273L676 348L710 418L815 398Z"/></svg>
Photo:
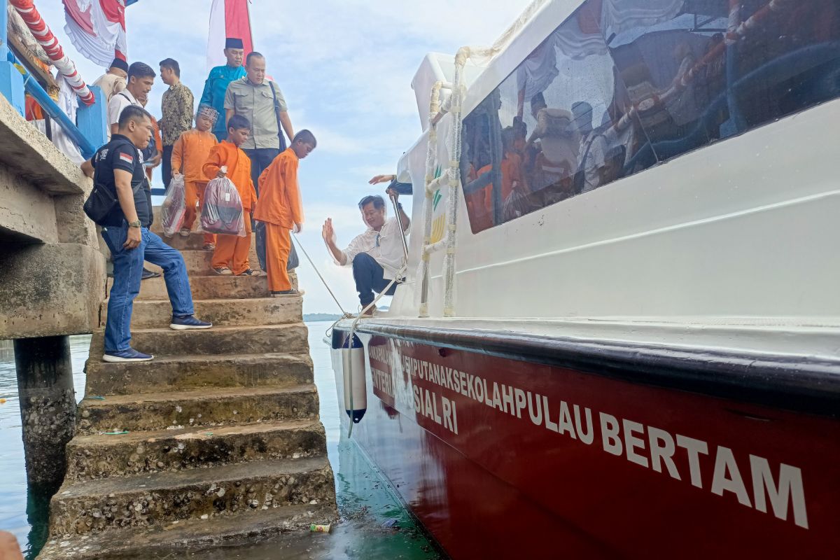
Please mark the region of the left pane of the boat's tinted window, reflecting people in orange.
<svg viewBox="0 0 840 560"><path fill-rule="evenodd" d="M627 98L585 4L464 120L473 232L653 165Z"/></svg>

